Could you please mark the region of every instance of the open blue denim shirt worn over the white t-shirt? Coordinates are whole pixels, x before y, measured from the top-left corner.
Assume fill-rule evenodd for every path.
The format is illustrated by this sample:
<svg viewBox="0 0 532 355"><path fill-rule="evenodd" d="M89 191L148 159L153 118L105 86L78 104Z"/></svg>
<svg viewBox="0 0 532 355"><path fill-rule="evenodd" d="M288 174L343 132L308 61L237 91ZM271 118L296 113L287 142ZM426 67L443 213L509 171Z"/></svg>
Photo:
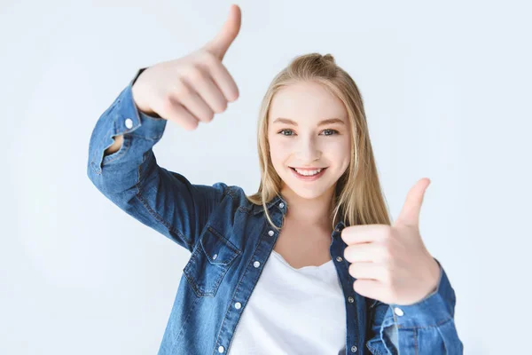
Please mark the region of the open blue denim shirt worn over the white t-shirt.
<svg viewBox="0 0 532 355"><path fill-rule="evenodd" d="M159 354L227 353L231 339L262 268L278 239L262 206L246 200L244 190L223 182L195 185L160 167L153 154L167 120L137 109L131 88L138 75L101 114L90 137L87 174L120 209L191 252L160 343ZM104 151L123 134L121 148ZM281 225L287 203L267 203ZM384 304L356 294L344 258L347 245L338 222L330 255L344 295L345 355L462 354L454 323L456 298L440 264L433 293L411 305ZM301 343L300 353L314 353Z"/></svg>

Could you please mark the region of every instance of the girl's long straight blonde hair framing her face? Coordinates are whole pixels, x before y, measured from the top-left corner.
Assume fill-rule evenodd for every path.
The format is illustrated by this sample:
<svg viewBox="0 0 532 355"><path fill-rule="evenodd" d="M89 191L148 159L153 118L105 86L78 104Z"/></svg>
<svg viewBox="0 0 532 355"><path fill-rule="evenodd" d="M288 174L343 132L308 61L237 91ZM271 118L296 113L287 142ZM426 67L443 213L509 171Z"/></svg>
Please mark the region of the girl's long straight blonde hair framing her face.
<svg viewBox="0 0 532 355"><path fill-rule="evenodd" d="M343 102L351 123L351 157L348 169L338 179L333 196L330 211L332 229L338 223L339 215L346 226L390 225L387 204L380 189L373 158L362 95L351 76L336 64L331 54L322 56L319 53L309 53L296 57L270 83L262 99L257 130L261 184L257 193L246 198L256 205L262 205L270 225L280 229L280 226L272 222L266 206L274 197L280 196L282 185L281 177L270 159L268 114L271 100L279 90L293 83L310 81L322 84Z"/></svg>

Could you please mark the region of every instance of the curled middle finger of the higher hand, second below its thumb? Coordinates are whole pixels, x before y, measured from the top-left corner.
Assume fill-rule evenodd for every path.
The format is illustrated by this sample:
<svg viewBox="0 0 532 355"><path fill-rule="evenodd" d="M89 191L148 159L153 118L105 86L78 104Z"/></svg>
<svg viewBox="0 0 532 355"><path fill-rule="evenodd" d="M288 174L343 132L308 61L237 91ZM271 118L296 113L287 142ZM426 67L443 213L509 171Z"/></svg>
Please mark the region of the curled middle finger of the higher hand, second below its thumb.
<svg viewBox="0 0 532 355"><path fill-rule="evenodd" d="M190 86L192 92L200 96L201 101L208 106L208 111L217 114L222 113L227 108L227 100L208 73L202 69L192 72L193 77L185 78L185 83ZM198 102L200 104L200 102ZM190 109L190 108L189 108Z"/></svg>

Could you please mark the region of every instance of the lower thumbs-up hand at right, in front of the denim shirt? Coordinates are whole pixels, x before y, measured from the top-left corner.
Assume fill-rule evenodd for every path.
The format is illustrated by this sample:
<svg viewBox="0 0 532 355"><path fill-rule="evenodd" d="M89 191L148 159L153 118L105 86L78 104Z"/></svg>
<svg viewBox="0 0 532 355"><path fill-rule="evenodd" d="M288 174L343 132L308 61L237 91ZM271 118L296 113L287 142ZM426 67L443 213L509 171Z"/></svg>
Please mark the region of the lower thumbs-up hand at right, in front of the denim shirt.
<svg viewBox="0 0 532 355"><path fill-rule="evenodd" d="M440 265L425 248L419 234L419 212L428 178L414 185L393 225L353 225L341 239L348 245L344 257L356 278L356 293L385 304L415 304L434 292Z"/></svg>

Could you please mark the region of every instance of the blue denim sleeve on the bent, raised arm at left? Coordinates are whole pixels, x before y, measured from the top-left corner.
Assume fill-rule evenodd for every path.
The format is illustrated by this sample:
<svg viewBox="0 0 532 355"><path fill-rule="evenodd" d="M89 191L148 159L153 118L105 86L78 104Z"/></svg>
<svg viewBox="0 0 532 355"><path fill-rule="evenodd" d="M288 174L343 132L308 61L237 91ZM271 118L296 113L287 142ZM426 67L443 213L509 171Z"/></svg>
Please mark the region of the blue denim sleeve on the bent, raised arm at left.
<svg viewBox="0 0 532 355"><path fill-rule="evenodd" d="M137 71L96 122L87 175L120 209L192 251L229 187L222 182L193 185L183 175L159 166L153 146L162 138L167 120L144 114L131 94L144 70ZM105 154L118 135L123 135L120 149Z"/></svg>

